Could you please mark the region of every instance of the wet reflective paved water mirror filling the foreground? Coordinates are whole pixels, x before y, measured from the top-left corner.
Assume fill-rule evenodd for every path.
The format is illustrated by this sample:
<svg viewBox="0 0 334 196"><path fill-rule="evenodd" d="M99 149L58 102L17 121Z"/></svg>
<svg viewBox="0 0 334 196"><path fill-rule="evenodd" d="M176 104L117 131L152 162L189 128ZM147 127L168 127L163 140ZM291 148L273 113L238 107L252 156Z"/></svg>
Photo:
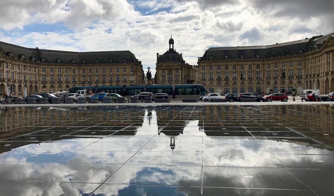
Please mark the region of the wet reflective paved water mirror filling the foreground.
<svg viewBox="0 0 334 196"><path fill-rule="evenodd" d="M332 105L2 107L0 195L334 195Z"/></svg>

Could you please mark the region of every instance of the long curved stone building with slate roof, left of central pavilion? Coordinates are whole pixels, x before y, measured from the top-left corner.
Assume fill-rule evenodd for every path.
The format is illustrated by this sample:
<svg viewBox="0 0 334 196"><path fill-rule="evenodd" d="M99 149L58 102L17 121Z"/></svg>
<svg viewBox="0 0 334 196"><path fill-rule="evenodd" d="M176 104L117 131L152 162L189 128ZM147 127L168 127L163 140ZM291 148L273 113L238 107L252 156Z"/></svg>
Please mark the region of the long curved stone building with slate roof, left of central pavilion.
<svg viewBox="0 0 334 196"><path fill-rule="evenodd" d="M72 86L142 84L141 61L130 51L66 52L0 42L0 96L53 93Z"/></svg>

